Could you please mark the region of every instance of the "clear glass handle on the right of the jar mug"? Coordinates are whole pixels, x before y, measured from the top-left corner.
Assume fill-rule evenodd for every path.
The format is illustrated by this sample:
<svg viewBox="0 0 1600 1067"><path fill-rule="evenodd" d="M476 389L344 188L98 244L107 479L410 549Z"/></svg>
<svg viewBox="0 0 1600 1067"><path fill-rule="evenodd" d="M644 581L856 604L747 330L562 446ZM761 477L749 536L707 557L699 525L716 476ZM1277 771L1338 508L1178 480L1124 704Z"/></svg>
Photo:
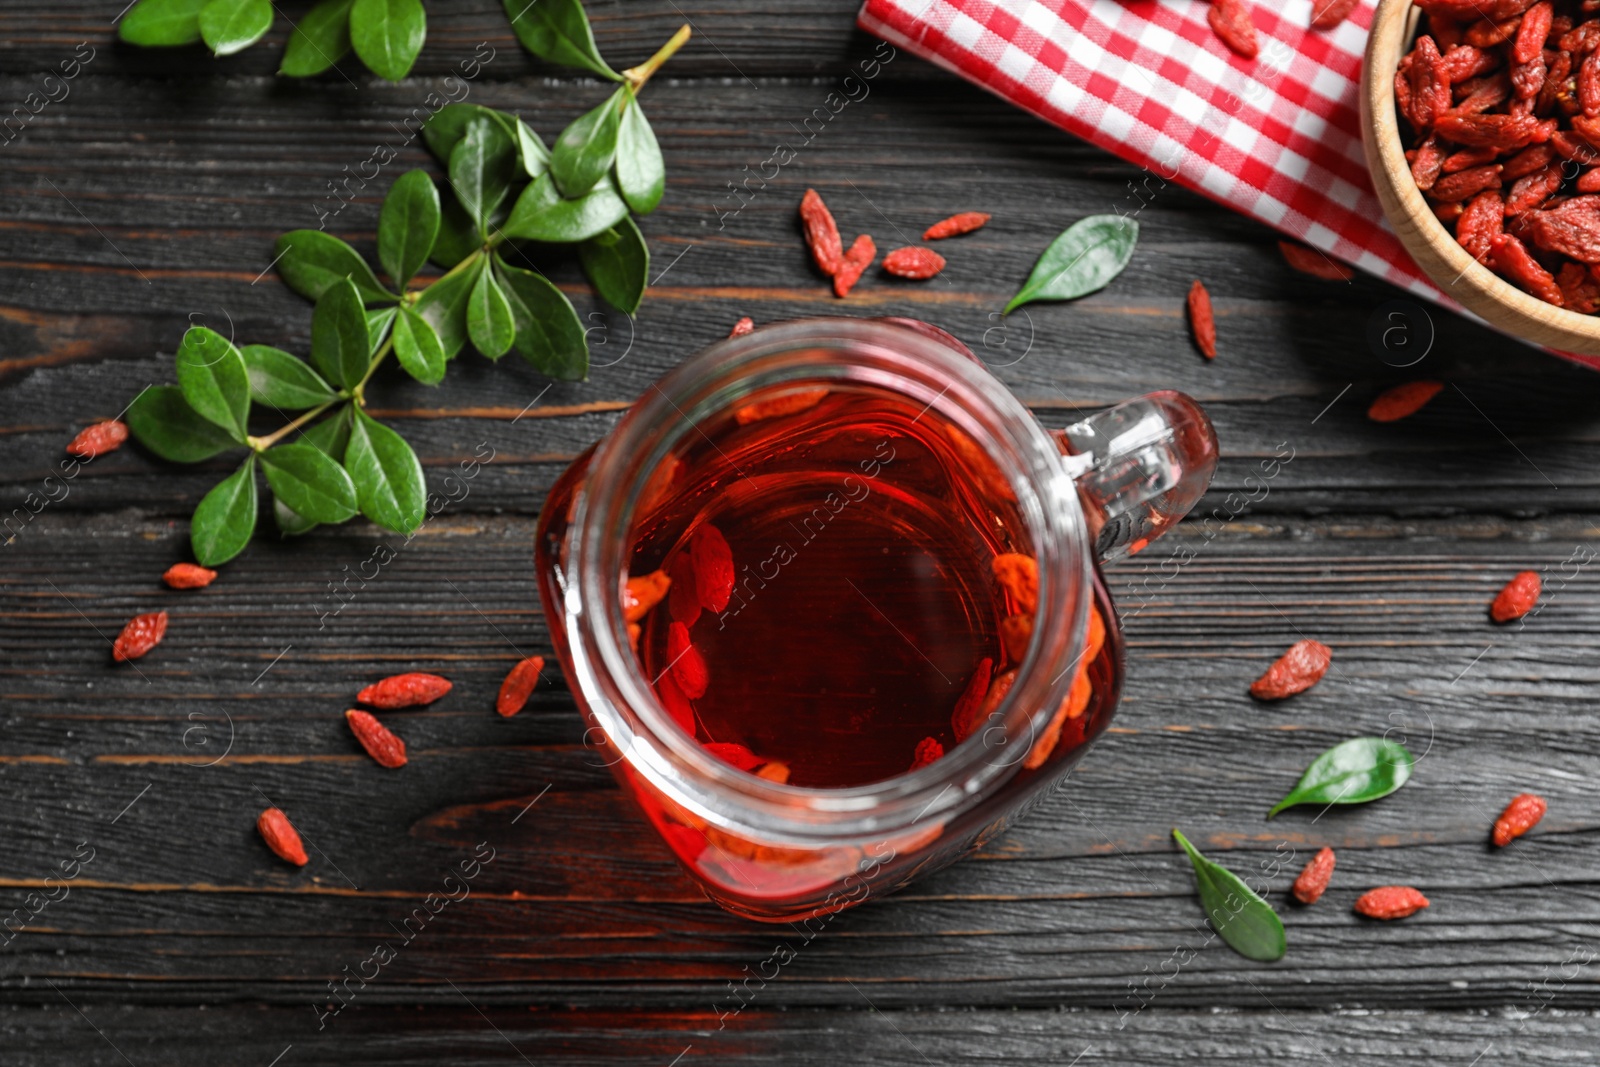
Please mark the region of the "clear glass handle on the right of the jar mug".
<svg viewBox="0 0 1600 1067"><path fill-rule="evenodd" d="M1194 400L1165 389L1118 403L1054 438L1077 482L1094 553L1138 552L1178 523L1216 474L1216 430Z"/></svg>

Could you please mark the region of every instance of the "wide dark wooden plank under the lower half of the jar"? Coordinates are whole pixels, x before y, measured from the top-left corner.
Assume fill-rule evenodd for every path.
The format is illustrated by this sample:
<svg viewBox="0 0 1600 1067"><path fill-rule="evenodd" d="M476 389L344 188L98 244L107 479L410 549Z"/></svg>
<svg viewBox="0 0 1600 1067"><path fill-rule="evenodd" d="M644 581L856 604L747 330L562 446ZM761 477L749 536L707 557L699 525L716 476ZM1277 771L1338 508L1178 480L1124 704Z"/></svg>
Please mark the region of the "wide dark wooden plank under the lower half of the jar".
<svg viewBox="0 0 1600 1067"><path fill-rule="evenodd" d="M699 899L582 747L554 672L528 712L490 710L509 664L549 648L530 520L445 515L323 619L326 582L379 536L264 542L187 597L155 582L184 550L181 525L46 510L16 539L0 577L0 779L29 809L11 819L0 885L19 902L80 841L96 859L0 957L0 985L306 998L394 937L477 841L494 862L374 1000L448 979L483 984L490 1003L691 1008L766 958L784 931ZM846 1005L850 982L885 1006L1114 1005L1186 947L1195 958L1165 1005L1238 1003L1248 979L1285 1009L1486 1006L1594 941L1600 737L1570 709L1595 681L1600 593L1562 568L1592 550L1590 520L1174 536L1194 549L1176 576L1138 560L1114 571L1133 667L1114 733L1072 784L982 856L838 918L774 1006ZM1518 568L1546 571L1552 597L1525 629L1494 629L1485 605ZM106 635L157 605L173 611L166 641L136 672L114 669ZM1248 680L1299 633L1336 649L1334 670L1294 701L1251 702ZM456 689L397 720L413 761L390 774L339 712L403 667ZM1406 739L1416 781L1378 805L1262 821L1317 752L1357 733ZM194 766L229 734L224 761ZM1522 789L1552 813L1491 853L1488 824ZM269 800L306 822L318 851L304 873L253 837ZM1293 854L1267 877L1278 901L1310 849L1339 849L1325 902L1285 909L1286 960L1261 968L1205 945L1173 822L1235 869ZM1392 926L1349 912L1389 881L1419 885L1434 907ZM1586 971L1563 998L1595 1006L1600 984Z"/></svg>

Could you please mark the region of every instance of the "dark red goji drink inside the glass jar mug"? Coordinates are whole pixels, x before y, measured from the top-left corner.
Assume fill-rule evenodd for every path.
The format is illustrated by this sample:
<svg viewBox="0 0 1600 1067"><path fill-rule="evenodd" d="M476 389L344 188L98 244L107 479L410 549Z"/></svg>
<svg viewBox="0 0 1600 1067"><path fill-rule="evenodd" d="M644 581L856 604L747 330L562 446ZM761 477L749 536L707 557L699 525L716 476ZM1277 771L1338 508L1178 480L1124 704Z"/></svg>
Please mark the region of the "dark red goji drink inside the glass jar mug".
<svg viewBox="0 0 1600 1067"><path fill-rule="evenodd" d="M861 387L757 397L696 429L645 491L629 568L677 585L638 633L669 712L794 785L906 773L928 737L954 749L981 661L1018 662L992 561L1034 552L994 461Z"/></svg>

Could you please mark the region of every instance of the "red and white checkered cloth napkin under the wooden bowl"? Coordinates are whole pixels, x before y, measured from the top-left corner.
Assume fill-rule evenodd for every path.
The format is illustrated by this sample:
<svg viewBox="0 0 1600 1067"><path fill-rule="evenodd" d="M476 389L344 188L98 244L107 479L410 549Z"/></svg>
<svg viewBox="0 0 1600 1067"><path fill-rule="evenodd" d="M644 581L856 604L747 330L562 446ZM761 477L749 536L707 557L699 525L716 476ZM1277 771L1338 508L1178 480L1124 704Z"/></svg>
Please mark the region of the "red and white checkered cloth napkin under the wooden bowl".
<svg viewBox="0 0 1600 1067"><path fill-rule="evenodd" d="M1458 309L1389 229L1362 155L1376 0L1331 30L1309 29L1312 0L1278 3L1250 0L1254 59L1218 40L1206 0L866 0L859 22L1163 181Z"/></svg>

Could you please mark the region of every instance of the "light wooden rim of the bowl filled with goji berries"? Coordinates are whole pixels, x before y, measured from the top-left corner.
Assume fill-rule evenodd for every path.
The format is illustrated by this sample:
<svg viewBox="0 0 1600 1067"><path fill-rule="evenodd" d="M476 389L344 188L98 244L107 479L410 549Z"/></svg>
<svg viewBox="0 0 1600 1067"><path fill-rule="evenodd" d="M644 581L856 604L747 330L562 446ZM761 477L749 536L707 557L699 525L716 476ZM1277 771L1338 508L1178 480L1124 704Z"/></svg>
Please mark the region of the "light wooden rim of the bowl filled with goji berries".
<svg viewBox="0 0 1600 1067"><path fill-rule="evenodd" d="M1389 226L1434 285L1462 307L1523 341L1600 355L1600 315L1546 304L1480 264L1456 243L1416 187L1400 142L1394 82L1419 16L1411 0L1379 0L1362 66L1362 146Z"/></svg>

